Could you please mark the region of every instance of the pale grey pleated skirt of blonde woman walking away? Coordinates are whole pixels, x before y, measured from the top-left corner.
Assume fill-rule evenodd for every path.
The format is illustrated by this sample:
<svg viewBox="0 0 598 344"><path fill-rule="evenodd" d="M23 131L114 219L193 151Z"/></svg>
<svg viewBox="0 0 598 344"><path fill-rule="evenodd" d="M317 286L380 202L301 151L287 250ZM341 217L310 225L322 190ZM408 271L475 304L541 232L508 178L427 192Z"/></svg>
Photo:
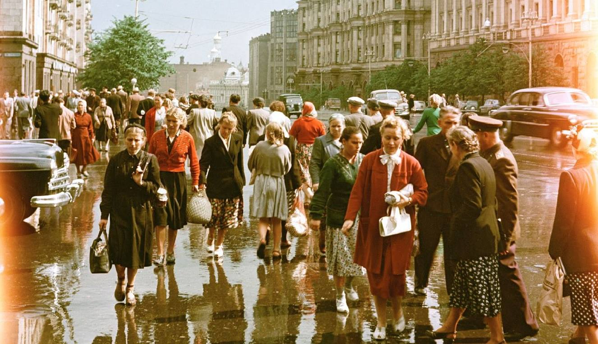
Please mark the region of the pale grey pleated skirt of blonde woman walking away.
<svg viewBox="0 0 598 344"><path fill-rule="evenodd" d="M277 217L286 220L286 188L284 177L258 174L255 177L252 217Z"/></svg>

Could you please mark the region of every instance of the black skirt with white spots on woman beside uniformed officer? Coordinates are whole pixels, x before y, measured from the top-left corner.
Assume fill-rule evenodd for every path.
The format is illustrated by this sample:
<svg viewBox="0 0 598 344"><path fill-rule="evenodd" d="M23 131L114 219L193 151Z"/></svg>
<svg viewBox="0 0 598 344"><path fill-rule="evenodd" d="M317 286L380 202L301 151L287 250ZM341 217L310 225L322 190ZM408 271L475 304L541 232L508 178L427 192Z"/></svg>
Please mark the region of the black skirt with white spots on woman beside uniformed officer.
<svg viewBox="0 0 598 344"><path fill-rule="evenodd" d="M449 306L490 318L501 312L497 255L457 262Z"/></svg>

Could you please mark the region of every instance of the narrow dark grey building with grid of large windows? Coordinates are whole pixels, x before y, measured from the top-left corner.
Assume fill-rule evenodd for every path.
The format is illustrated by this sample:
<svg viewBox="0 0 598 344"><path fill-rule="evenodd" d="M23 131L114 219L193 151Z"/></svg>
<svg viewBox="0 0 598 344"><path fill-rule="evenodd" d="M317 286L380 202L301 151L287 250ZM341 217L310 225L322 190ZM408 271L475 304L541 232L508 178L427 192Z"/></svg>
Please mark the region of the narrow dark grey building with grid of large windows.
<svg viewBox="0 0 598 344"><path fill-rule="evenodd" d="M270 59L267 77L267 100L292 93L298 60L297 10L270 12Z"/></svg>

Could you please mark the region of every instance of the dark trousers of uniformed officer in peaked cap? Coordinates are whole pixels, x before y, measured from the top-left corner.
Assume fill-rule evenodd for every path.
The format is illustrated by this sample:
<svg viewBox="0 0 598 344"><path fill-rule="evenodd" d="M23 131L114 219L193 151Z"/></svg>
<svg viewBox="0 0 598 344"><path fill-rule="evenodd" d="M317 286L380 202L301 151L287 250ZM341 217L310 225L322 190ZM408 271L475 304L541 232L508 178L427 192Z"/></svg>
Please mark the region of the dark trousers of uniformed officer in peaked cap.
<svg viewBox="0 0 598 344"><path fill-rule="evenodd" d="M538 322L527 299L523 277L515 261L516 245L512 244L509 253L500 257L498 277L501 281L502 327L505 332L522 334L538 331Z"/></svg>

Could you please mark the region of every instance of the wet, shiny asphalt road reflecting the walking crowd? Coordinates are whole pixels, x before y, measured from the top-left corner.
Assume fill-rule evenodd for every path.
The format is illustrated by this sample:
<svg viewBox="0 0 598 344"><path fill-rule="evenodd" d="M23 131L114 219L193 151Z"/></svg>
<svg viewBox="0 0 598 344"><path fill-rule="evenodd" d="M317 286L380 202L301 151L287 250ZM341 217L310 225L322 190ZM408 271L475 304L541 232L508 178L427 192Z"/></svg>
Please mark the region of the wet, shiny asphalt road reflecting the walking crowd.
<svg viewBox="0 0 598 344"><path fill-rule="evenodd" d="M322 113L321 119L328 115ZM255 256L256 221L249 219L252 186L244 192L246 225L228 232L223 259L208 256L205 229L190 225L179 231L176 265L140 270L137 305L117 304L114 269L90 274L88 254L97 235L103 172L109 156L121 149L111 147L89 167L91 176L74 204L37 211L0 236L1 343L371 341L376 320L367 279L356 279L360 300L350 304L350 314L337 315L334 284L319 256L317 234L292 239L282 262ZM535 308L549 259L559 173L574 161L570 147L555 151L547 141L529 137L517 137L512 151L520 170L517 257ZM413 271L408 272L403 302L407 329L398 335L389 332L387 342L434 343L425 330L439 327L449 311L440 250L427 296L411 294ZM538 336L523 342L566 343L573 329L568 299L564 309L560 327L541 325ZM488 336L487 329L463 327L456 342L485 343Z"/></svg>

